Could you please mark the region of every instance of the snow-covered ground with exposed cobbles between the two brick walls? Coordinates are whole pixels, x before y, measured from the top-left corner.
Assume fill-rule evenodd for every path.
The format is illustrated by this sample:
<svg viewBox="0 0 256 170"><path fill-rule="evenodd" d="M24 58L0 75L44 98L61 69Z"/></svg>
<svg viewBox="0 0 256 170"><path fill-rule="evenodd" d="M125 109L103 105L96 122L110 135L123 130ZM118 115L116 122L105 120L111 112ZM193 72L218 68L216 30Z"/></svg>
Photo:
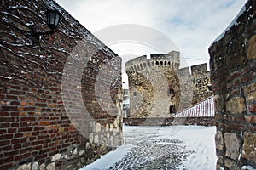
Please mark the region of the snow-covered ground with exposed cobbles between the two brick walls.
<svg viewBox="0 0 256 170"><path fill-rule="evenodd" d="M80 170L215 170L216 127L124 127L124 144Z"/></svg>

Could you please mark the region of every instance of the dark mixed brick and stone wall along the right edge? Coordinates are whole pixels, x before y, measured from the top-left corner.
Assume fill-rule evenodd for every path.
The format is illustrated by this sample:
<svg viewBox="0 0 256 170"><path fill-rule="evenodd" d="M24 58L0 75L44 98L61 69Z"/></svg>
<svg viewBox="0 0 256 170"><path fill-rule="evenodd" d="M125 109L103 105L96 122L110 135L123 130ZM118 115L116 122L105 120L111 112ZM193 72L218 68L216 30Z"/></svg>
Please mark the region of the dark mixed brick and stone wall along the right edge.
<svg viewBox="0 0 256 170"><path fill-rule="evenodd" d="M209 48L218 169L256 168L256 3Z"/></svg>

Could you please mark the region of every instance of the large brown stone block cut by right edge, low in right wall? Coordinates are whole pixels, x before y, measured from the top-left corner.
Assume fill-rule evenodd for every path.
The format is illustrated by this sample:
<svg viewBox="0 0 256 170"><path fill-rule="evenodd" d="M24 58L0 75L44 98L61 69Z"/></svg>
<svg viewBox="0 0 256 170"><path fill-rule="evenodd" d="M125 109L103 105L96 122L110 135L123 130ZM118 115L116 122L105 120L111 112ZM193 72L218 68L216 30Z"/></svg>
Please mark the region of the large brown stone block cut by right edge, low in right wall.
<svg viewBox="0 0 256 170"><path fill-rule="evenodd" d="M244 133L242 157L256 163L256 133Z"/></svg>

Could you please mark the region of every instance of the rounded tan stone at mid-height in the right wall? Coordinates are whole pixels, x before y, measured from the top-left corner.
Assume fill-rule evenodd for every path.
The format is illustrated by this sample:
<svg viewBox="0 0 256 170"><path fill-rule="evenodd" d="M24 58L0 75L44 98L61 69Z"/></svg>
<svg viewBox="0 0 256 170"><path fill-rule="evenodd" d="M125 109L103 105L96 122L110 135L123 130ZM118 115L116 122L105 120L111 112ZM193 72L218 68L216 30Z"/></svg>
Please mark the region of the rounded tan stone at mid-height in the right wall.
<svg viewBox="0 0 256 170"><path fill-rule="evenodd" d="M231 114L237 114L246 111L244 99L241 97L231 98L226 103L226 109L227 111L230 111Z"/></svg>

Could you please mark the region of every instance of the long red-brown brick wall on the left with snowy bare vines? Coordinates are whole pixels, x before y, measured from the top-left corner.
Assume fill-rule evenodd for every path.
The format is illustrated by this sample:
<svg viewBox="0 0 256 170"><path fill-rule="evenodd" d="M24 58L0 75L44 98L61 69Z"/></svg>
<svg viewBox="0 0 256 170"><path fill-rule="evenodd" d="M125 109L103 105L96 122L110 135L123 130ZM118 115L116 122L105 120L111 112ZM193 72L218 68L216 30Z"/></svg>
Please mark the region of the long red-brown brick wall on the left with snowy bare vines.
<svg viewBox="0 0 256 170"><path fill-rule="evenodd" d="M75 169L113 150L122 142L119 56L53 1L0 4L0 169ZM62 14L59 31L32 47L32 26L48 30L44 12L50 6ZM82 39L77 53L90 58L87 65L73 52ZM63 82L70 63L67 70L78 74ZM119 74L97 77L104 65ZM102 99L109 80L110 97ZM102 89L97 94L96 84Z"/></svg>

